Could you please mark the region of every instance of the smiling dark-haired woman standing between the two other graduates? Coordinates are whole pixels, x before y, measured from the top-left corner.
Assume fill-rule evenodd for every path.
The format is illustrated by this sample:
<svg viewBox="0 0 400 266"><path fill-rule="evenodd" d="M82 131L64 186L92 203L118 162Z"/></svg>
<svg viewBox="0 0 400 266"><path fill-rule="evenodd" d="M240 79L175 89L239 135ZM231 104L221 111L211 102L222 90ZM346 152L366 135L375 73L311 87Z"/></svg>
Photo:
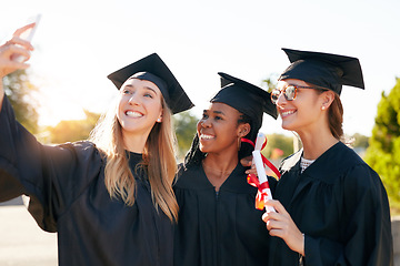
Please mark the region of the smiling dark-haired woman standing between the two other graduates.
<svg viewBox="0 0 400 266"><path fill-rule="evenodd" d="M176 266L264 265L268 231L254 207L257 188L239 163L251 154L263 113L277 117L270 94L219 73L222 89L198 122L174 185L179 204Z"/></svg>

